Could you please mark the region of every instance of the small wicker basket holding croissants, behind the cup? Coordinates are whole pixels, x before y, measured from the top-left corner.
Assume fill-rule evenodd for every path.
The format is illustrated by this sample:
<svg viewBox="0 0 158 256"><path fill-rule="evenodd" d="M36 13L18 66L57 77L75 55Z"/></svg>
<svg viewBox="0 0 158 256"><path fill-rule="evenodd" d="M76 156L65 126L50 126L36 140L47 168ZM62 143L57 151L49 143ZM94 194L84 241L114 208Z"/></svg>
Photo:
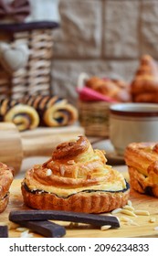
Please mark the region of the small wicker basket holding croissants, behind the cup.
<svg viewBox="0 0 158 256"><path fill-rule="evenodd" d="M106 101L80 101L79 123L88 136L109 136L110 104Z"/></svg>

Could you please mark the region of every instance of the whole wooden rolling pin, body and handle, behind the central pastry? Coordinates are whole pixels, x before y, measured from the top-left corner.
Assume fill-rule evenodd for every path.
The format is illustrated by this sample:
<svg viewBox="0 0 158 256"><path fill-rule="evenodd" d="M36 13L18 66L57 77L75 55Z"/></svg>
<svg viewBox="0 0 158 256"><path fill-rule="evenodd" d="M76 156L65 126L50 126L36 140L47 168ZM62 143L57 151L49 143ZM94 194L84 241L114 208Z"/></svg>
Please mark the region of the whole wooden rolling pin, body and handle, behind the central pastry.
<svg viewBox="0 0 158 256"><path fill-rule="evenodd" d="M55 147L84 134L79 126L37 128L19 132L14 123L0 123L0 162L20 171L22 161L29 156L51 156Z"/></svg>

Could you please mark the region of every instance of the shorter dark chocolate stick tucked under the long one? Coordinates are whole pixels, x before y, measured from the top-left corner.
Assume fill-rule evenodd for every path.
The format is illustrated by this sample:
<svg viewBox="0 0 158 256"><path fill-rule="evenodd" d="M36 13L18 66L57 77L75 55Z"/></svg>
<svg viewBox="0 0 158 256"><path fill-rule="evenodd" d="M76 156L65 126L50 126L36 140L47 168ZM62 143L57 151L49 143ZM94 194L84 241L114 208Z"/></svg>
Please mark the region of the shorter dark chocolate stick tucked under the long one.
<svg viewBox="0 0 158 256"><path fill-rule="evenodd" d="M47 238L60 238L66 234L66 229L63 226L47 220L23 220L16 221L16 223Z"/></svg>

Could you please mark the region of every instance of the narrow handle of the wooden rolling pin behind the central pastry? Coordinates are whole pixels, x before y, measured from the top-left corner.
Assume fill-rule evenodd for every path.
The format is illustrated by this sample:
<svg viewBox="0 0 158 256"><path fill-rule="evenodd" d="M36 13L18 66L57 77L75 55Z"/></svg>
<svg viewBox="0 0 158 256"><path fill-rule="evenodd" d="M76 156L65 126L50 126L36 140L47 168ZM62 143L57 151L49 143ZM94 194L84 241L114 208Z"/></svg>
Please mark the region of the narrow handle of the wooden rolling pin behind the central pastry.
<svg viewBox="0 0 158 256"><path fill-rule="evenodd" d="M26 133L21 133L24 156L50 156L58 144L76 140L79 135L84 135L84 129L80 126L47 127L26 131Z"/></svg>

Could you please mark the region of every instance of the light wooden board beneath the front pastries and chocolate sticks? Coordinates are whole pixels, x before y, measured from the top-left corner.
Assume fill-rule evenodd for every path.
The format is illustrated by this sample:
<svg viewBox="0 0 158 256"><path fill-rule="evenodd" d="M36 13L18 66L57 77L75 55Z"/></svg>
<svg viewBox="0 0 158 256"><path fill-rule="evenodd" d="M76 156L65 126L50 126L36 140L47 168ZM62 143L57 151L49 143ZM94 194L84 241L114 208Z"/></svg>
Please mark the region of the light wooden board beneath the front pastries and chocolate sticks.
<svg viewBox="0 0 158 256"><path fill-rule="evenodd" d="M8 215L11 210L27 209L23 203L23 197L21 195L21 180L15 179L10 189L10 201L3 213L0 214L0 224L6 223L9 229L9 237L20 237L21 233L16 230L18 227L15 223L8 220ZM118 213L116 216L119 218L124 216L132 219L138 226L127 225L127 223L121 221L121 228L100 230L90 225L79 224L78 227L69 226L69 222L56 221L58 224L62 224L66 227L66 238L113 238L113 237L158 237L158 230L154 230L158 226L158 198L148 197L131 191L132 206L135 209L145 209L150 212L150 216L138 216L130 217L122 213ZM151 223L150 219L155 218L155 222ZM30 231L31 232L31 231ZM33 237L40 238L37 233L33 233Z"/></svg>

